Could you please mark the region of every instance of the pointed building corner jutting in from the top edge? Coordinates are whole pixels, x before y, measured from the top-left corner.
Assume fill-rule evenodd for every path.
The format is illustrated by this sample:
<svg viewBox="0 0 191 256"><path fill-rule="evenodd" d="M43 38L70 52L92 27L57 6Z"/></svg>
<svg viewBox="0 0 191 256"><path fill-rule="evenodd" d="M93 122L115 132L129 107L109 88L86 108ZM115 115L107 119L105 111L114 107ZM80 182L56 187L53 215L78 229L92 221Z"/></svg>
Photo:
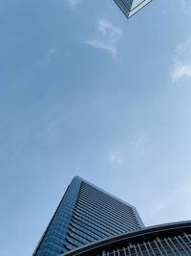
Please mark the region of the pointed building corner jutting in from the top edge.
<svg viewBox="0 0 191 256"><path fill-rule="evenodd" d="M125 14L126 17L131 17L140 9L149 4L152 0L114 0L117 6Z"/></svg>

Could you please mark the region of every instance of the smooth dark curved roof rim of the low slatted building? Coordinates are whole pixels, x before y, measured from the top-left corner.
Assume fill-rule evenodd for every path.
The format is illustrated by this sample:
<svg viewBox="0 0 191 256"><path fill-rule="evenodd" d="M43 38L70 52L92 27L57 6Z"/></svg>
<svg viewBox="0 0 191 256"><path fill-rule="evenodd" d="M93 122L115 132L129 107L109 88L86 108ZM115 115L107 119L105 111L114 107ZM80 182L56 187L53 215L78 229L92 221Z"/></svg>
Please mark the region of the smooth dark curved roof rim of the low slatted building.
<svg viewBox="0 0 191 256"><path fill-rule="evenodd" d="M94 251L94 254L100 254L103 250L112 250L117 247L126 246L128 243L136 244L150 241L156 237L165 238L167 236L176 236L183 232L191 232L191 221L180 221L165 223L150 227L145 227L137 231L122 233L120 235L100 240L96 243L87 244L71 250L62 256L88 256Z"/></svg>

